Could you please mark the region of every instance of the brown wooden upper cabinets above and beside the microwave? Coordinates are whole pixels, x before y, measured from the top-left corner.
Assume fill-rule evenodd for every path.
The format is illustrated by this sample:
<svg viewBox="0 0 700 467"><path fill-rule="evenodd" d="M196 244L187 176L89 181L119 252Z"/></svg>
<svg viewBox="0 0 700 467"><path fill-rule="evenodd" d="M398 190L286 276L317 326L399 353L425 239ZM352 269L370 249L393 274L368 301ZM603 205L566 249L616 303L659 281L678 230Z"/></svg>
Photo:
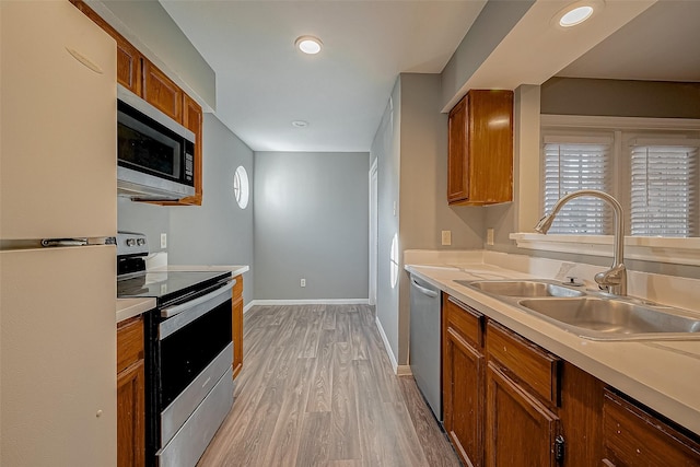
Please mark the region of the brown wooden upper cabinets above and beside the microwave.
<svg viewBox="0 0 700 467"><path fill-rule="evenodd" d="M149 61L131 43L95 13L83 0L70 0L117 43L117 82L195 133L195 196L165 206L201 206L202 109L173 80Z"/></svg>

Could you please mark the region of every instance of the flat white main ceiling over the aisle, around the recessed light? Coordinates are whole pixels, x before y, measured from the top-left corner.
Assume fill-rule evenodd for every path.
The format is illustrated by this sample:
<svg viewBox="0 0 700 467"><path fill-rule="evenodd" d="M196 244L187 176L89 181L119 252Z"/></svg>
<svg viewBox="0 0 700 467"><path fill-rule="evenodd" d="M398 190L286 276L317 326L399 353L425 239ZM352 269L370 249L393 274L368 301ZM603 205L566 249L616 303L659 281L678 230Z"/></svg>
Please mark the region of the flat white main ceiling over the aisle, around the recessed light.
<svg viewBox="0 0 700 467"><path fill-rule="evenodd" d="M217 116L253 150L354 152L398 73L441 72L486 0L161 3L217 73ZM322 52L295 50L301 35Z"/></svg>

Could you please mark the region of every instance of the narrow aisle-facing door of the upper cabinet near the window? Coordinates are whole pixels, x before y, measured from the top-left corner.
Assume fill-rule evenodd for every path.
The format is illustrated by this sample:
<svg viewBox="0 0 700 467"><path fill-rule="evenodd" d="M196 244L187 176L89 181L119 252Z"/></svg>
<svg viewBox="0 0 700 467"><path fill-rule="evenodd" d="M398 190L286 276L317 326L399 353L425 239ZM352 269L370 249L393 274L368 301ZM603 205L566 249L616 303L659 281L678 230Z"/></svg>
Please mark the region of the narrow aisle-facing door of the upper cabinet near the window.
<svg viewBox="0 0 700 467"><path fill-rule="evenodd" d="M447 201L458 202L469 197L467 153L467 100L465 96L450 112L447 147Z"/></svg>

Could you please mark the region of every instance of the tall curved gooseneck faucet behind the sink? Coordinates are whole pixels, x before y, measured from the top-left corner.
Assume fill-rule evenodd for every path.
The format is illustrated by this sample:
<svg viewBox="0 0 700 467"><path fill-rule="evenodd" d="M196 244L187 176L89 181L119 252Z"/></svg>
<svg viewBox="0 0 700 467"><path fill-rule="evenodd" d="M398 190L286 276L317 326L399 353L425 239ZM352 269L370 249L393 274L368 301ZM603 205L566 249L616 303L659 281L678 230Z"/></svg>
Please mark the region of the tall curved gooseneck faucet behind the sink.
<svg viewBox="0 0 700 467"><path fill-rule="evenodd" d="M615 211L615 250L612 254L612 267L607 271L598 272L595 275L595 281L600 289L607 289L608 292L615 295L627 295L627 268L622 262L625 254L625 218L622 217L622 207L617 199L604 191L594 189L582 189L573 191L562 196L557 200L555 207L549 214L545 214L544 218L535 225L535 231L546 234L551 227L551 223L555 221L555 217L559 212L562 206L571 201L574 198L582 196L591 196L607 201Z"/></svg>

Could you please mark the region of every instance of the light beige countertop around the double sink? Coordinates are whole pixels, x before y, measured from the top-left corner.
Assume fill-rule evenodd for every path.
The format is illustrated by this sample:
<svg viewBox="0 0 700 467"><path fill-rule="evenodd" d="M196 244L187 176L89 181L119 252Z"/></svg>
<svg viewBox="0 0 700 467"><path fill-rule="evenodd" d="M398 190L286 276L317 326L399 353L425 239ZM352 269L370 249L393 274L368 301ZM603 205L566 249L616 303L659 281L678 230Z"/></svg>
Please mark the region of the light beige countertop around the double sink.
<svg viewBox="0 0 700 467"><path fill-rule="evenodd" d="M587 340L455 282L534 277L552 279L553 275L532 276L478 260L458 265L443 262L442 266L406 262L407 271L700 434L700 340Z"/></svg>

